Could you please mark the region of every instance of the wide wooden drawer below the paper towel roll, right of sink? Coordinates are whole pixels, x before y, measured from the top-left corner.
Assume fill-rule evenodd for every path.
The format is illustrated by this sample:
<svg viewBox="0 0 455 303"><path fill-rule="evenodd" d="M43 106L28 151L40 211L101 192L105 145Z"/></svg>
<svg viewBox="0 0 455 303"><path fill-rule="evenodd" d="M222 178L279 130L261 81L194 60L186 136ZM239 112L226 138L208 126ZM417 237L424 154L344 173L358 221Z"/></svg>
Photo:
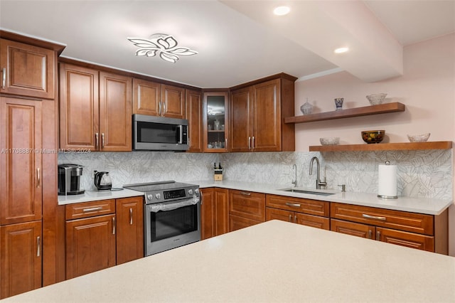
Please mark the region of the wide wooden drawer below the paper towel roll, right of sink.
<svg viewBox="0 0 455 303"><path fill-rule="evenodd" d="M331 218L434 235L433 216L422 213L331 203Z"/></svg>

